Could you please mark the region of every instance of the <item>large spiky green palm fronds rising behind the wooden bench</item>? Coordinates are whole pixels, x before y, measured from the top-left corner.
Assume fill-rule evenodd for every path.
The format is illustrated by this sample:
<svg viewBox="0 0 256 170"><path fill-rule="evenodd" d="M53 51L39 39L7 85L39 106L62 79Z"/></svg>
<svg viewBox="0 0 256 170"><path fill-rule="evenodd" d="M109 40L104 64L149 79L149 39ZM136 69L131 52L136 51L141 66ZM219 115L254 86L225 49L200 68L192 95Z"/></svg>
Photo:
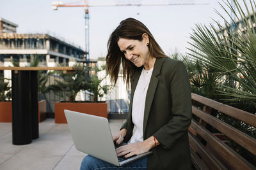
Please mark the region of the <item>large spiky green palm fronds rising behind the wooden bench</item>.
<svg viewBox="0 0 256 170"><path fill-rule="evenodd" d="M214 73L220 74L218 89L223 100L230 103L237 101L249 101L256 108L256 34L255 27L252 29L253 20L255 20L255 2L250 0L250 7L244 2L244 8L234 1L237 12L234 11L231 4L220 4L227 13L226 9L234 12L237 18L241 18L243 27L235 23L237 29L232 29L232 24L223 16L225 27L219 22L215 22L217 27L210 25L196 25L193 29L190 43L193 48L189 55L198 60L202 60L205 66L211 66ZM230 15L229 15L230 16ZM252 17L250 17L252 16Z"/></svg>

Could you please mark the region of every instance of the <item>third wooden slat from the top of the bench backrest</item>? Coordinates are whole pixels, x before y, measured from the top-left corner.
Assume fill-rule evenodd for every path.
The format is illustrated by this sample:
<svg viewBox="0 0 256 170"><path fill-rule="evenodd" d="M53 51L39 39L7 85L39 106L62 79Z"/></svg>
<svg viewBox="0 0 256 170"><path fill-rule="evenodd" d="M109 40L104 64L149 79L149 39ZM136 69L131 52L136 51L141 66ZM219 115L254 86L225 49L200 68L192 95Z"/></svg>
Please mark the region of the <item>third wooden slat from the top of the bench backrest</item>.
<svg viewBox="0 0 256 170"><path fill-rule="evenodd" d="M207 129L200 126L197 122L192 120L191 127L195 129L195 131L211 145L216 152L220 153L223 156L225 161L232 164L235 169L255 169L252 164L250 164L247 160L241 157L238 153L236 153L232 148L227 146L223 141L218 139L216 136L211 134Z"/></svg>

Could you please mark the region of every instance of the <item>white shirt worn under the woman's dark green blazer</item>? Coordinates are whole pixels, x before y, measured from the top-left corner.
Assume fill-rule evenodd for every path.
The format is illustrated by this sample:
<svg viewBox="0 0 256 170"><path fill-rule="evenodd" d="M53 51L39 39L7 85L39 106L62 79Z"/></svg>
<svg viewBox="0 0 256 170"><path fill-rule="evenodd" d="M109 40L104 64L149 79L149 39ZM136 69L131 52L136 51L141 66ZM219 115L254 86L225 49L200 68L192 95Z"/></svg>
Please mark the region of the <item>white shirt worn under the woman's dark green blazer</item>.
<svg viewBox="0 0 256 170"><path fill-rule="evenodd" d="M134 124L134 127L132 131L132 137L128 141L128 143L137 143L143 141L145 101L153 68L151 68L150 70L145 70L143 68L141 71L140 78L133 96L132 122Z"/></svg>

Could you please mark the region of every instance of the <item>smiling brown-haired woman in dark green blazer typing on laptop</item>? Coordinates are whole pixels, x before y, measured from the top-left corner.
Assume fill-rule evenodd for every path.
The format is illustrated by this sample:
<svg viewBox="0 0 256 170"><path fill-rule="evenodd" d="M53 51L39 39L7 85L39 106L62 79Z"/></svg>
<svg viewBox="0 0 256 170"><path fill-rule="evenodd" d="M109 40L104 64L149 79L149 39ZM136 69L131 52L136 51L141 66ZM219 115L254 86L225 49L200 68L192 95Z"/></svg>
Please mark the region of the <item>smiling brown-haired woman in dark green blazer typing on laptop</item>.
<svg viewBox="0 0 256 170"><path fill-rule="evenodd" d="M128 145L116 149L131 157L151 150L147 157L116 167L90 155L81 169L191 169L188 127L191 89L184 64L168 58L140 21L120 22L108 41L107 74L116 83L120 65L131 102L127 121L113 140Z"/></svg>

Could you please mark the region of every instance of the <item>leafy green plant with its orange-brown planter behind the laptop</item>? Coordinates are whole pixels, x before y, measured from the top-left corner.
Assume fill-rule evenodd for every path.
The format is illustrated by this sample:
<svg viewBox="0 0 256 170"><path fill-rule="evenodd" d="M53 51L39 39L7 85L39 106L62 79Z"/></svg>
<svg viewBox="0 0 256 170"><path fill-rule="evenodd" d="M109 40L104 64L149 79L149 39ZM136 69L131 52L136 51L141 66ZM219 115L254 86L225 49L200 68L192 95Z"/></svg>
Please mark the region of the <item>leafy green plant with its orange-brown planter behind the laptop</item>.
<svg viewBox="0 0 256 170"><path fill-rule="evenodd" d="M65 109L108 117L108 104L106 102L98 102L98 97L104 96L109 88L106 85L100 85L102 78L100 79L96 75L89 77L88 71L88 67L84 66L74 74L65 74L57 71L61 80L57 80L56 84L50 85L49 88L56 95L67 98L68 101L55 103L55 123L67 124L64 114ZM76 101L77 93L81 90L90 90L94 94L93 101Z"/></svg>

